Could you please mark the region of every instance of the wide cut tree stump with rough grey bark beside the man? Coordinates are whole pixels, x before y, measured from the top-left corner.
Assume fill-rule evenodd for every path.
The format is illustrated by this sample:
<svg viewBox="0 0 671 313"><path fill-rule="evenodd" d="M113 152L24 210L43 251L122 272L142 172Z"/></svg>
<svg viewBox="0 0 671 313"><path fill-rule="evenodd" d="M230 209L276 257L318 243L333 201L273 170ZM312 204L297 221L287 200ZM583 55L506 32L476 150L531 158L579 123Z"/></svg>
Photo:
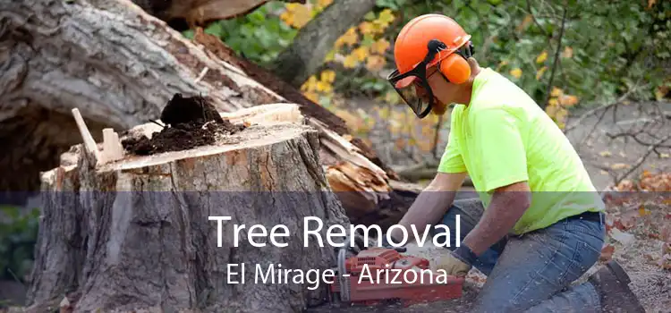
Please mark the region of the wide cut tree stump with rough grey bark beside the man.
<svg viewBox="0 0 671 313"><path fill-rule="evenodd" d="M157 129L140 125L129 136ZM323 221L323 239L330 224L349 225L319 163L318 134L274 121L219 136L215 144L102 165L81 145L71 148L61 166L42 175L29 305L44 311L67 294L74 312L289 312L326 300L326 288L310 290L309 283L254 283L257 264L305 272L335 266L326 241L324 247L303 242L304 216ZM221 247L209 216L231 218L222 223ZM245 225L237 247L234 224ZM268 235L285 225L288 235L276 240L286 247L263 236L252 240L266 246L253 246L247 236L261 233L251 230L255 224ZM245 283L228 281L229 273L241 272L229 264L246 265Z"/></svg>

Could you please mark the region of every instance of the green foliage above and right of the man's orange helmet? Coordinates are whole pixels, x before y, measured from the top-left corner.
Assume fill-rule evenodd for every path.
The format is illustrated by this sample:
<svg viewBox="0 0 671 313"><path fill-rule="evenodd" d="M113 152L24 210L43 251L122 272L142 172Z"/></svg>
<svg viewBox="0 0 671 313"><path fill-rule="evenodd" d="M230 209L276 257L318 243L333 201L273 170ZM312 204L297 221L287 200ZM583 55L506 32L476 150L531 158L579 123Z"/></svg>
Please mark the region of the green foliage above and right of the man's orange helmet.
<svg viewBox="0 0 671 313"><path fill-rule="evenodd" d="M453 17L471 33L480 65L502 72L541 105L548 98L551 75L552 87L576 95L582 103L612 99L634 86L637 92L632 96L650 99L668 75L662 66L650 66L650 62L669 58L671 3L649 4L596 0L569 1L567 5L526 0L417 2L406 7L403 23L429 12ZM537 62L543 53L547 57ZM519 78L511 73L515 69L521 71Z"/></svg>

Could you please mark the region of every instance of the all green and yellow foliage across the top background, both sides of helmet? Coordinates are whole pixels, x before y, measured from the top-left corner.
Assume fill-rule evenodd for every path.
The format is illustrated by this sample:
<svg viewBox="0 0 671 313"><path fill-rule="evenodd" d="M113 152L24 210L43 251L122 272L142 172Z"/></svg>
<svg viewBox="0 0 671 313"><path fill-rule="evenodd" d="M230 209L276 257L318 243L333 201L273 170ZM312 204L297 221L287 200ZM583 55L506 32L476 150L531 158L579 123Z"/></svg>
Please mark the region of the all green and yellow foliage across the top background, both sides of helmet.
<svg viewBox="0 0 671 313"><path fill-rule="evenodd" d="M300 25L330 3L270 2L246 16L219 21L206 31L265 66L288 47ZM370 27L383 19L380 13L385 10L391 10L395 20L389 27L382 33L364 30L367 22L365 26ZM424 13L444 13L459 22L472 35L480 65L509 77L540 106L552 100L549 92L553 89L582 106L624 93L654 99L667 90L671 58L668 1L377 0L375 10L343 34L346 44L336 43L320 69L335 71L334 91L361 92L388 101L386 93L393 89L385 74L394 65L395 36L407 21ZM384 60L369 62L373 55L369 47L378 40L392 47L378 54ZM365 49L357 54L357 47ZM562 102L561 98L555 101Z"/></svg>

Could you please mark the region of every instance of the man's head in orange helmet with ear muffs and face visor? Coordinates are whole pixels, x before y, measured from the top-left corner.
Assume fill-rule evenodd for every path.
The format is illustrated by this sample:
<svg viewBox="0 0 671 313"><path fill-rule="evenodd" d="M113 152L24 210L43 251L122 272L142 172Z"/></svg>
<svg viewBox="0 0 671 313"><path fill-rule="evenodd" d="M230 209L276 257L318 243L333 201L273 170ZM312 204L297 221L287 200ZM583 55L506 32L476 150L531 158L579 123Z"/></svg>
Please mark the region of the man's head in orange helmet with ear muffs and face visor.
<svg viewBox="0 0 671 313"><path fill-rule="evenodd" d="M445 15L421 15L398 34L396 70L387 80L420 118L444 114L449 104L470 97L478 66L471 55L471 35L459 24Z"/></svg>

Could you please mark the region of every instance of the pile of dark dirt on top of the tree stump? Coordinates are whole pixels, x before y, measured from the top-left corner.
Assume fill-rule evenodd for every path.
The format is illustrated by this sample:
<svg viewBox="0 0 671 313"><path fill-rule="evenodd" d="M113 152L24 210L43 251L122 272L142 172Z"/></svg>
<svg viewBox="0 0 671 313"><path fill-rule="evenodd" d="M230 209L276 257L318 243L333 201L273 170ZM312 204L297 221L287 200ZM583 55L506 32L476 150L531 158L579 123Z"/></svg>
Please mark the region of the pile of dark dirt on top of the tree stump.
<svg viewBox="0 0 671 313"><path fill-rule="evenodd" d="M214 144L217 136L230 135L245 129L221 118L205 97L183 97L175 94L161 112L166 127L147 137L122 141L123 148L134 155L149 156L168 151L181 151Z"/></svg>

